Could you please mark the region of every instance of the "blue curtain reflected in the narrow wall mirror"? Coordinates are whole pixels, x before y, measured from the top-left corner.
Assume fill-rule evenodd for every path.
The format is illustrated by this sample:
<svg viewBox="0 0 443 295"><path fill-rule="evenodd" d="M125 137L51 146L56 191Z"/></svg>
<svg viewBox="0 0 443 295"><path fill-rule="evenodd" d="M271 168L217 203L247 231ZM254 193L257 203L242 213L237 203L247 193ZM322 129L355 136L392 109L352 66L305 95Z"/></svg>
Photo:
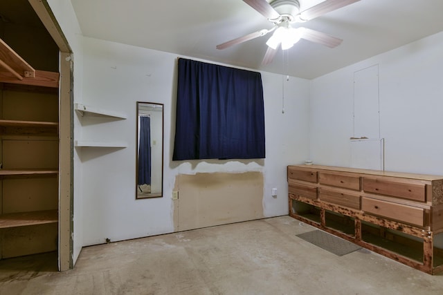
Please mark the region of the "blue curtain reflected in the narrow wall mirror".
<svg viewBox="0 0 443 295"><path fill-rule="evenodd" d="M138 143L138 184L151 184L151 118L140 116Z"/></svg>

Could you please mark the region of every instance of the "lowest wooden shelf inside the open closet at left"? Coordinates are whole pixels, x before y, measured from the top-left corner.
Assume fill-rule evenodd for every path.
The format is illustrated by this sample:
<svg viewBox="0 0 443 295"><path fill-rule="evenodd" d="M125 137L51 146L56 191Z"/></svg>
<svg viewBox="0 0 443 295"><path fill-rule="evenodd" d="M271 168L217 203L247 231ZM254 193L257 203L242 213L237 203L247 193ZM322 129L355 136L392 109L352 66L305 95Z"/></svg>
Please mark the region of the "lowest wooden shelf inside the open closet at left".
<svg viewBox="0 0 443 295"><path fill-rule="evenodd" d="M57 210L6 213L0 215L0 229L57 223Z"/></svg>

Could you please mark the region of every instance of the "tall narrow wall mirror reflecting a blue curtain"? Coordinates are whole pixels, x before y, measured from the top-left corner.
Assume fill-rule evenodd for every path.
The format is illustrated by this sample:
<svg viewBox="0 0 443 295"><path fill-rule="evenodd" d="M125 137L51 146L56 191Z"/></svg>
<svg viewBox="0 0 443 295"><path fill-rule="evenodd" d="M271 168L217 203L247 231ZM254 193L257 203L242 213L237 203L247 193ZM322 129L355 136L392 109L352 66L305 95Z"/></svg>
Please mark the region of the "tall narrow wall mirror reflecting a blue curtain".
<svg viewBox="0 0 443 295"><path fill-rule="evenodd" d="M137 102L136 198L163 196L163 104Z"/></svg>

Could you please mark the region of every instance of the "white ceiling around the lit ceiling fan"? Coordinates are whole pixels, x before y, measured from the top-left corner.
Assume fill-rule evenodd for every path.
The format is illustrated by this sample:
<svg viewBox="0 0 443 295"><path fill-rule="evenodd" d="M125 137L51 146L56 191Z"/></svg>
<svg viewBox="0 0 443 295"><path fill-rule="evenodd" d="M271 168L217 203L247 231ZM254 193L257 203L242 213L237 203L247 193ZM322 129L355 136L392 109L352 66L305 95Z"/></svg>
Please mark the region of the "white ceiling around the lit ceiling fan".
<svg viewBox="0 0 443 295"><path fill-rule="evenodd" d="M312 79L443 30L442 0L361 0L303 23L343 39L300 40L262 66L266 39L217 50L272 24L242 0L71 0L83 35L196 59ZM322 0L300 0L305 10ZM286 54L287 53L287 54Z"/></svg>

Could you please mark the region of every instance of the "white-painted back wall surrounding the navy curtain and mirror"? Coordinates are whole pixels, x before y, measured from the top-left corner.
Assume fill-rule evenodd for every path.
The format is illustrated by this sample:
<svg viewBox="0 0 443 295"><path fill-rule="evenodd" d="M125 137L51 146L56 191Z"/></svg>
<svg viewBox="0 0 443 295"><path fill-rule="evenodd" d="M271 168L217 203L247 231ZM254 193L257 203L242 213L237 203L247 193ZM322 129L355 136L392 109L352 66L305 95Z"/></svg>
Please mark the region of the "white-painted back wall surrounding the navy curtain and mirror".
<svg viewBox="0 0 443 295"><path fill-rule="evenodd" d="M78 136L128 144L126 149L76 148L82 169L84 245L174 231L171 196L179 173L261 171L264 216L288 213L286 166L309 154L309 82L287 82L281 75L262 73L265 160L172 162L177 55L86 37L82 44L82 103L126 113L127 120L84 118ZM165 104L163 198L135 200L137 101ZM278 189L277 198L271 197L273 187Z"/></svg>

